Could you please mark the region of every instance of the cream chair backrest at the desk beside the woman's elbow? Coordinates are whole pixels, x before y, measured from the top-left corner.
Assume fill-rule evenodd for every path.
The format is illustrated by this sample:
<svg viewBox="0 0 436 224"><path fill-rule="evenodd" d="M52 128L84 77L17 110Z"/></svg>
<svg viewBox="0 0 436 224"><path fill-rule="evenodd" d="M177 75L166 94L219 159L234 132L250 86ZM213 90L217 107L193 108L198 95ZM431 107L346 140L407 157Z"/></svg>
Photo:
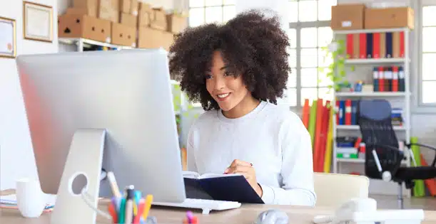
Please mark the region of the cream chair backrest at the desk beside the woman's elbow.
<svg viewBox="0 0 436 224"><path fill-rule="evenodd" d="M338 208L351 198L367 198L370 180L366 176L315 173L316 206Z"/></svg>

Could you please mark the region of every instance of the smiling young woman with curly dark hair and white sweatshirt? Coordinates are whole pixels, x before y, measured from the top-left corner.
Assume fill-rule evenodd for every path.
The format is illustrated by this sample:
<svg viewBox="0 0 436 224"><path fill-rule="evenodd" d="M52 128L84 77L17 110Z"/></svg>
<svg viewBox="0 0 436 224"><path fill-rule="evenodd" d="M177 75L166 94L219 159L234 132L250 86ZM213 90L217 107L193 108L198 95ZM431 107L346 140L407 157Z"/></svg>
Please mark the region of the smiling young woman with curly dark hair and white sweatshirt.
<svg viewBox="0 0 436 224"><path fill-rule="evenodd" d="M189 132L189 171L243 174L267 204L314 206L310 135L275 105L290 73L288 46L278 17L247 11L179 34L170 71L206 110Z"/></svg>

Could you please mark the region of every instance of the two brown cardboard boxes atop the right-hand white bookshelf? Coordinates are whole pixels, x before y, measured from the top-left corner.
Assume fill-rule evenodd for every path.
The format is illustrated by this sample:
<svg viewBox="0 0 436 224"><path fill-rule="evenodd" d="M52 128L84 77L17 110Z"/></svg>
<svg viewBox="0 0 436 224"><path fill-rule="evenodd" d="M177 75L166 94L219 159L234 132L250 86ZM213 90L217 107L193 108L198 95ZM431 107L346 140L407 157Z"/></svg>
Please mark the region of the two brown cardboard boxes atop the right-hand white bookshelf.
<svg viewBox="0 0 436 224"><path fill-rule="evenodd" d="M365 4L338 4L331 10L333 30L414 28L410 7L368 8Z"/></svg>

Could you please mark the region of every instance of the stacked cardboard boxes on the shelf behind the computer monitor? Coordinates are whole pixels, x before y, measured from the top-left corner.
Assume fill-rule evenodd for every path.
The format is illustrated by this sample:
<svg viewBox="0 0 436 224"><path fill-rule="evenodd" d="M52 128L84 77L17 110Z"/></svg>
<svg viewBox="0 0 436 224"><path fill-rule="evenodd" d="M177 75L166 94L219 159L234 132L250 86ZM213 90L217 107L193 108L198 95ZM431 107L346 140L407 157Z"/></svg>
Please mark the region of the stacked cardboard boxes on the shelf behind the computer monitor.
<svg viewBox="0 0 436 224"><path fill-rule="evenodd" d="M168 50L173 35L186 28L186 20L138 0L73 0L73 7L58 18L58 35Z"/></svg>

